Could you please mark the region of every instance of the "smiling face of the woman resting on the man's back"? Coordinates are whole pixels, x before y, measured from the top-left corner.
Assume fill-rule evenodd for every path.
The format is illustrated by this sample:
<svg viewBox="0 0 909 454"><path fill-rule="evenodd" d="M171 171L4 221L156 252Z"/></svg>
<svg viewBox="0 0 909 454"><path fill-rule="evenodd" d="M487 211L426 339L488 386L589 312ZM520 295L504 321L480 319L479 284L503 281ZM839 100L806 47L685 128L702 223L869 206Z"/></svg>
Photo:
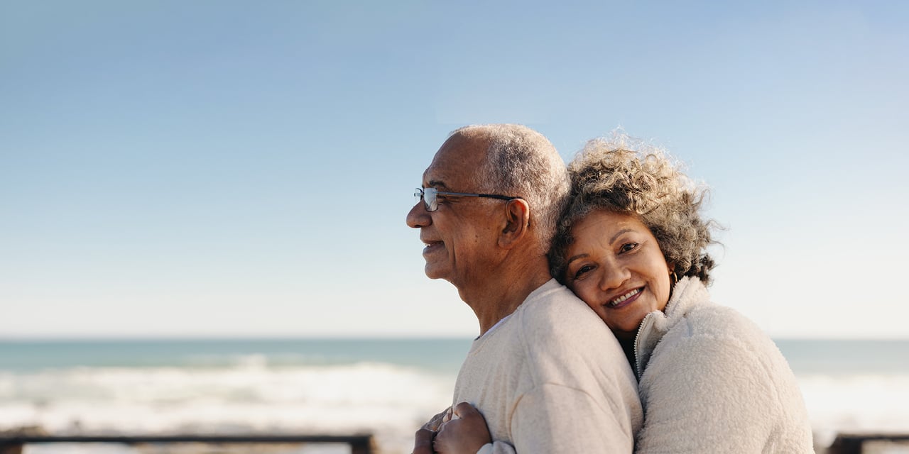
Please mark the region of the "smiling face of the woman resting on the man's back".
<svg viewBox="0 0 909 454"><path fill-rule="evenodd" d="M660 246L634 216L604 210L572 229L565 281L619 339L634 339L644 316L669 301L669 266Z"/></svg>

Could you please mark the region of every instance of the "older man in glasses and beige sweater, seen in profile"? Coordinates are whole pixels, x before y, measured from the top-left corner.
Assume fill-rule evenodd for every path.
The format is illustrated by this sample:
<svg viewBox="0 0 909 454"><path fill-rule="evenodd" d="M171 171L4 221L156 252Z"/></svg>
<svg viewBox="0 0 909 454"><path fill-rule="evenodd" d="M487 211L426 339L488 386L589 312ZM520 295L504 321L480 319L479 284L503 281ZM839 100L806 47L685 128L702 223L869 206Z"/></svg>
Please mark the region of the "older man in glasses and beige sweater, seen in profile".
<svg viewBox="0 0 909 454"><path fill-rule="evenodd" d="M441 429L443 413L417 431L415 454L433 452L436 434L436 448L464 452L634 449L642 422L634 373L603 321L546 262L569 191L561 156L524 126L467 126L435 153L407 225L420 229L426 275L451 281L479 321L454 403L472 404L485 424L460 403ZM455 435L487 425L493 443Z"/></svg>

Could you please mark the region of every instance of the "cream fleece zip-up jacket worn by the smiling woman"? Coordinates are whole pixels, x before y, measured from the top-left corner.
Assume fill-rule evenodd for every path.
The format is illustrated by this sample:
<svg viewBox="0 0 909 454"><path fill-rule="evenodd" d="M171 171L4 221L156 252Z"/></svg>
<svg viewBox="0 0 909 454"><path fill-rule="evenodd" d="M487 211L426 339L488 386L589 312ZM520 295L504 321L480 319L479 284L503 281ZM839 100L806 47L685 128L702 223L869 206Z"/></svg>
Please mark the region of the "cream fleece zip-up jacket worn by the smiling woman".
<svg viewBox="0 0 909 454"><path fill-rule="evenodd" d="M679 280L665 311L634 342L644 429L635 452L814 452L792 370L738 312L714 305L701 281Z"/></svg>

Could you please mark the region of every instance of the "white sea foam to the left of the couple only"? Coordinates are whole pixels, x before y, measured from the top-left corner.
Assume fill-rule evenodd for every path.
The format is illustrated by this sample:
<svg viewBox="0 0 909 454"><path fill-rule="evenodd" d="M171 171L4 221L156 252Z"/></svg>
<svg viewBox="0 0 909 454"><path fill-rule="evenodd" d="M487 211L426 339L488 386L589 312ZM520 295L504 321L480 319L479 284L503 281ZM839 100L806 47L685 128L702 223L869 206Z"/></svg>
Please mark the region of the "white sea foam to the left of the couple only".
<svg viewBox="0 0 909 454"><path fill-rule="evenodd" d="M0 373L0 429L53 433L375 433L388 452L450 404L454 376L381 363Z"/></svg>

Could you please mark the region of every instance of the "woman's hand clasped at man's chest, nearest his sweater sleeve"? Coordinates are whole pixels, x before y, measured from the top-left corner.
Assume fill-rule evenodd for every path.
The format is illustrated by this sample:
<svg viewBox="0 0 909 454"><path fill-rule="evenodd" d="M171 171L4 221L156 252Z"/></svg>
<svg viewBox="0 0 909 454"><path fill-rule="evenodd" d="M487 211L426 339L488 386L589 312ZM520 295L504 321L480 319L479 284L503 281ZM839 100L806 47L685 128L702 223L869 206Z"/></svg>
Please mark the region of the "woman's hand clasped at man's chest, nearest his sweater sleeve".
<svg viewBox="0 0 909 454"><path fill-rule="evenodd" d="M492 440L483 415L473 405L461 402L454 407L451 420L435 434L433 447L440 454L476 454Z"/></svg>

